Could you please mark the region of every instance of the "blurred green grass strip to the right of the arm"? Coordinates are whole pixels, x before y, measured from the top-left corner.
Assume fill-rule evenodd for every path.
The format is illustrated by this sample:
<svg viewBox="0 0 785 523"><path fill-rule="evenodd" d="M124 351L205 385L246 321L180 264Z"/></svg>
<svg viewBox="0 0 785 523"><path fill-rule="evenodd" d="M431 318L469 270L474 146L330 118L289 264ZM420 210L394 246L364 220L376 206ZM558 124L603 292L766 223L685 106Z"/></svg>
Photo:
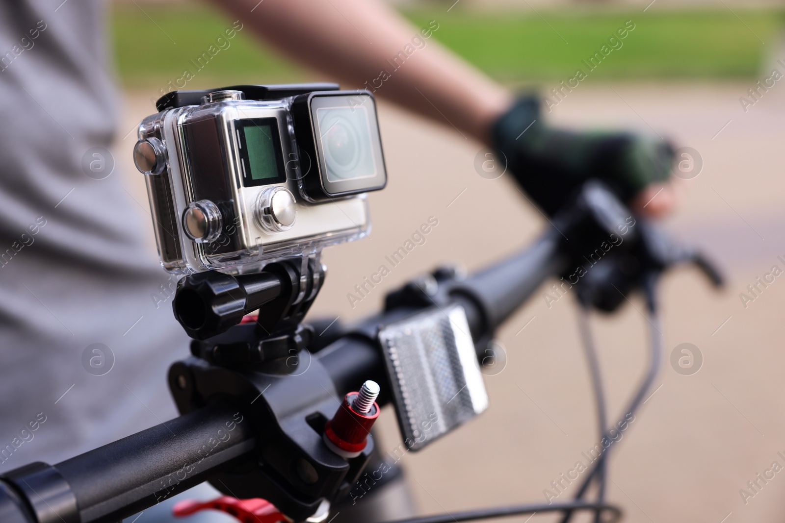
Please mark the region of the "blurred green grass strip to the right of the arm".
<svg viewBox="0 0 785 523"><path fill-rule="evenodd" d="M783 16L728 11L507 16L412 16L417 24L436 19L445 45L494 78L564 79L582 67L626 20L635 29L593 78L748 78L758 74L766 46ZM544 19L544 20L543 20ZM750 31L751 30L751 31ZM566 42L565 42L566 41Z"/></svg>

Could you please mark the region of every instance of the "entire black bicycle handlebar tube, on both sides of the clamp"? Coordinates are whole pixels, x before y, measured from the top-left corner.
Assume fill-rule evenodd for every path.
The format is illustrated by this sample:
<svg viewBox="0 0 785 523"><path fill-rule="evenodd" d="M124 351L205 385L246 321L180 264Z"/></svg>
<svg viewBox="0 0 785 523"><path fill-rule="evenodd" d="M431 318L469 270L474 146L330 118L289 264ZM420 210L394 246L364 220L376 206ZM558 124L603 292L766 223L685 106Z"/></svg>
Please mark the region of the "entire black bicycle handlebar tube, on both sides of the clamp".
<svg viewBox="0 0 785 523"><path fill-rule="evenodd" d="M570 221L579 226L586 222L575 215ZM608 219L600 216L596 221ZM564 220L557 223L563 225ZM568 234L576 238L575 242L581 241L582 234ZM482 340L528 300L546 278L563 272L583 248L575 247L573 242L565 247L563 237L554 225L527 249L469 278L448 281L436 300L460 303L473 339ZM662 267L667 264L657 263ZM437 304L426 297L433 303L421 303L420 308ZM404 302L403 306L388 309L314 354L339 395L356 390L363 380L387 382L375 338L378 327L417 311L418 306ZM0 478L0 520L118 521L239 463L255 463L256 456L250 452L260 434L254 424L250 419L243 423L243 415L229 405L210 405L54 467L33 463L13 470ZM265 493L259 492L258 496Z"/></svg>

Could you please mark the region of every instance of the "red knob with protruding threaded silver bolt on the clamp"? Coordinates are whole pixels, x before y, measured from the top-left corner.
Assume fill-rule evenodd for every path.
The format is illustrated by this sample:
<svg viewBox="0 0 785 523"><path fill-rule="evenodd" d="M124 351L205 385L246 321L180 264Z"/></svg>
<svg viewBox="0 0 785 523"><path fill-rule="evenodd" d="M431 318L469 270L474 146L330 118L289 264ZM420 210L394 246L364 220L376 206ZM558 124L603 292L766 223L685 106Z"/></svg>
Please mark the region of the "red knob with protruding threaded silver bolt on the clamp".
<svg viewBox="0 0 785 523"><path fill-rule="evenodd" d="M379 417L379 384L368 380L359 392L346 394L333 419L324 425L324 443L345 458L360 456L367 445L368 434Z"/></svg>

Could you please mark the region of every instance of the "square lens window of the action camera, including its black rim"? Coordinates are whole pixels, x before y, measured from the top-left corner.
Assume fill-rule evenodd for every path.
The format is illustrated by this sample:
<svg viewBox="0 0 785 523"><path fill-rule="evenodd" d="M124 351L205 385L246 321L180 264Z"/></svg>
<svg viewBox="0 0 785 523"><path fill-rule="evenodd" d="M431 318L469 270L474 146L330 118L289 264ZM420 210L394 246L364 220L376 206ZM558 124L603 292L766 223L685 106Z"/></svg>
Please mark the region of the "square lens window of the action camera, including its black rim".
<svg viewBox="0 0 785 523"><path fill-rule="evenodd" d="M327 194L384 187L382 142L371 96L314 96L311 100L317 154Z"/></svg>

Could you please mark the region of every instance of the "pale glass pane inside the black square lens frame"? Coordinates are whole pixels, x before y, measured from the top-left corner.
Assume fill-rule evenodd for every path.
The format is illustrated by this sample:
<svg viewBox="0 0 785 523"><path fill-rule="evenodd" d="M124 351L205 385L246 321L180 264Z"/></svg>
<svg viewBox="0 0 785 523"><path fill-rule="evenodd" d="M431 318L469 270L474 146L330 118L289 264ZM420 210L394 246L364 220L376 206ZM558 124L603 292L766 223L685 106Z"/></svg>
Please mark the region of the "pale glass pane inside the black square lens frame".
<svg viewBox="0 0 785 523"><path fill-rule="evenodd" d="M371 131L365 107L319 107L327 180L374 176Z"/></svg>

